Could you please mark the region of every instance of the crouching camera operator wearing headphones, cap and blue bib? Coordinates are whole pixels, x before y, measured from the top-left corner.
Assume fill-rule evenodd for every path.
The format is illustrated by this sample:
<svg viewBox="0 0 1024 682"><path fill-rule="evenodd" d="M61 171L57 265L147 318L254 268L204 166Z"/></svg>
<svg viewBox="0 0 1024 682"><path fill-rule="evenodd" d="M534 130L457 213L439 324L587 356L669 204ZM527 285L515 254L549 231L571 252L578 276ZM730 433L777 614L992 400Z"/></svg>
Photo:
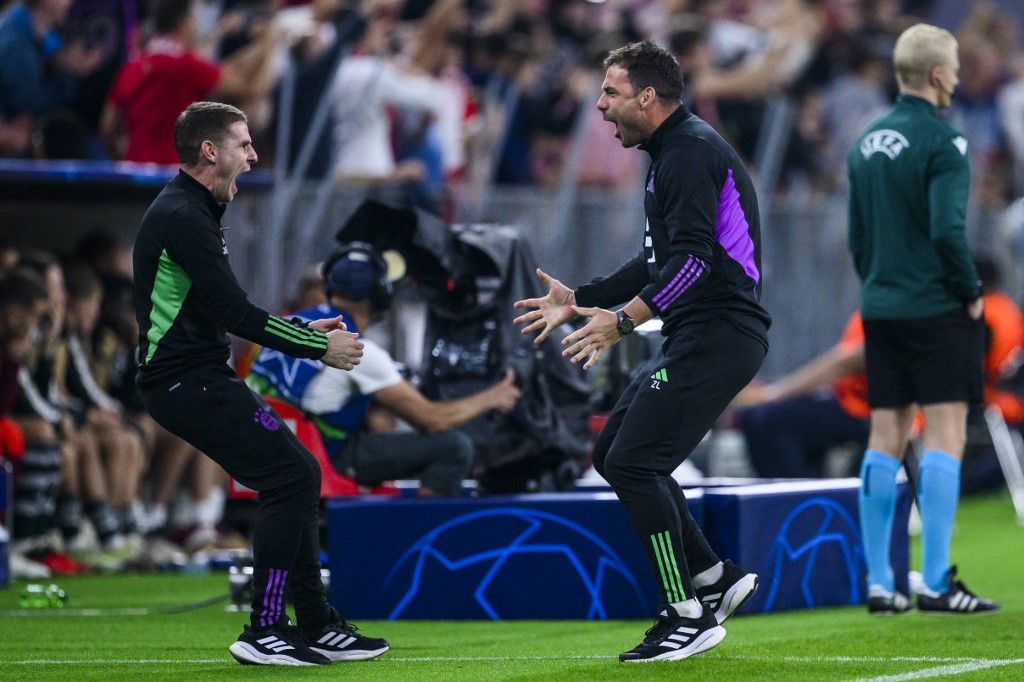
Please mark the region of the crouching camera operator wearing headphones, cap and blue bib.
<svg viewBox="0 0 1024 682"><path fill-rule="evenodd" d="M349 331L362 333L390 307L388 265L370 245L342 248L327 260L323 273L328 302L295 316L342 315ZM260 393L304 411L324 436L335 468L360 485L418 478L422 496L459 495L472 464L473 443L455 429L493 410L512 411L520 395L512 371L472 395L431 400L402 379L384 348L360 340L362 360L349 372L264 348L247 381ZM415 431L388 430L393 417Z"/></svg>

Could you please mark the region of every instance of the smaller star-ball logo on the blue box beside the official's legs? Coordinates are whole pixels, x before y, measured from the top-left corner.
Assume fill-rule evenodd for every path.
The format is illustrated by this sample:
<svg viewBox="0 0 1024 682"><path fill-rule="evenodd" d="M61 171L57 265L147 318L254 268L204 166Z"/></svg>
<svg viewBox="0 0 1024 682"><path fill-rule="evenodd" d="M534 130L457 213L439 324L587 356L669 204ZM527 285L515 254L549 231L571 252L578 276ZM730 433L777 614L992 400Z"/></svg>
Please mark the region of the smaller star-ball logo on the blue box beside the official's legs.
<svg viewBox="0 0 1024 682"><path fill-rule="evenodd" d="M815 570L816 565L825 568ZM779 606L859 604L863 566L860 526L850 512L827 498L807 500L790 512L772 541L761 570L768 586L761 610L767 613L776 601L792 601L794 594L799 603ZM836 601L843 593L845 601Z"/></svg>

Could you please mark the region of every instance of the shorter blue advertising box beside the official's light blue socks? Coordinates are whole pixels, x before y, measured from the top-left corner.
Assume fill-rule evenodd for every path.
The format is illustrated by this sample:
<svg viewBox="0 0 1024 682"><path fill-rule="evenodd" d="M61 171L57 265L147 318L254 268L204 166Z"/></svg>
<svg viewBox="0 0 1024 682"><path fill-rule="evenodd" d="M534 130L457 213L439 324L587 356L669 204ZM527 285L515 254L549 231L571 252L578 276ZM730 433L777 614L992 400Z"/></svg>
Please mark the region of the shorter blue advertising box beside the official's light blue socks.
<svg viewBox="0 0 1024 682"><path fill-rule="evenodd" d="M760 577L741 612L864 602L858 478L740 485L705 492L711 546ZM909 486L901 483L892 542L896 587L907 594Z"/></svg>

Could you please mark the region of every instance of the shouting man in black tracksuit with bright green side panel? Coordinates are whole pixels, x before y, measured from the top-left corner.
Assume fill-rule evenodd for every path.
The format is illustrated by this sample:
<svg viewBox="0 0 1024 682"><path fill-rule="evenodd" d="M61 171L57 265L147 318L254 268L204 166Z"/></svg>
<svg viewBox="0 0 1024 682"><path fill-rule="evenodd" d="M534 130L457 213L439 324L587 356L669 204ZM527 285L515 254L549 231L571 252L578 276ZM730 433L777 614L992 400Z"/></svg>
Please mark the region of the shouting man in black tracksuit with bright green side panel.
<svg viewBox="0 0 1024 682"><path fill-rule="evenodd" d="M316 461L226 364L227 332L343 370L359 361L362 344L340 317L300 325L268 314L234 279L220 218L257 160L245 114L191 104L174 143L181 170L135 240L137 383L158 423L259 492L251 625L229 651L240 663L287 666L379 655L387 642L359 635L324 596ZM299 631L285 613L286 588Z"/></svg>

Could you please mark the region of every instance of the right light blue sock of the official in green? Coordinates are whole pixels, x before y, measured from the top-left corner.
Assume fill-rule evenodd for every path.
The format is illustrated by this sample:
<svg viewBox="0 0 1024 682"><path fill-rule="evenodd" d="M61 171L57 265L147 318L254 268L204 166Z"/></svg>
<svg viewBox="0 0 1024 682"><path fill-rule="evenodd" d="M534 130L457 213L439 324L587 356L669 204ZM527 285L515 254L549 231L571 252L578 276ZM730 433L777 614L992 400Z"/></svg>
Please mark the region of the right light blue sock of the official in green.
<svg viewBox="0 0 1024 682"><path fill-rule="evenodd" d="M949 541L959 501L959 460L929 450L918 467L918 511L921 512L922 573L928 589L949 589Z"/></svg>

